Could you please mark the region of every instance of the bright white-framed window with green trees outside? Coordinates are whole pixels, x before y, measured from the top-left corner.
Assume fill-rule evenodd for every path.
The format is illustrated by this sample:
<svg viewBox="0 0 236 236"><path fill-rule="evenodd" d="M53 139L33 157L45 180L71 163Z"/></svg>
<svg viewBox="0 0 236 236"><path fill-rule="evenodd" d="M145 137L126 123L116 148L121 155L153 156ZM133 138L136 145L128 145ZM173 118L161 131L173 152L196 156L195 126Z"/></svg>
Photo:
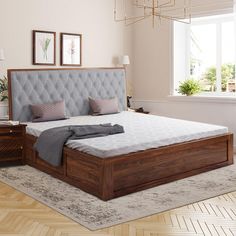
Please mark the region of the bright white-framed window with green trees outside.
<svg viewBox="0 0 236 236"><path fill-rule="evenodd" d="M235 19L202 17L174 23L174 94L187 78L199 80L204 95L236 95Z"/></svg>

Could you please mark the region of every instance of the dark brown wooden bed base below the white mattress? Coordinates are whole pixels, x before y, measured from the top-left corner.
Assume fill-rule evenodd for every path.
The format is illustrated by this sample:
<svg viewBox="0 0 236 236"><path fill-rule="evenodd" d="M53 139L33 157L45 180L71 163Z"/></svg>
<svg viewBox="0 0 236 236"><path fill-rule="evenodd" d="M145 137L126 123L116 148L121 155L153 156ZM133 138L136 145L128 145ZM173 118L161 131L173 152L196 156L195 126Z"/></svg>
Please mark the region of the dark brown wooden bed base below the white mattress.
<svg viewBox="0 0 236 236"><path fill-rule="evenodd" d="M103 200L233 163L232 134L106 159L65 147L60 167L39 158L33 150L35 141L26 136L26 163Z"/></svg>

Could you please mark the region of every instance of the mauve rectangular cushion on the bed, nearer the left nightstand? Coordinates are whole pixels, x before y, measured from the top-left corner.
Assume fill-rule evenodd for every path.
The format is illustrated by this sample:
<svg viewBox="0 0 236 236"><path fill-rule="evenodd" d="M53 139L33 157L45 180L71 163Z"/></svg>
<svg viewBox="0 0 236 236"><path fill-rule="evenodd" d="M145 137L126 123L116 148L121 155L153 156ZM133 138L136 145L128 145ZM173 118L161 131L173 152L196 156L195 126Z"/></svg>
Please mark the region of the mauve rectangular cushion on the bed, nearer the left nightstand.
<svg viewBox="0 0 236 236"><path fill-rule="evenodd" d="M64 101L34 104L31 105L31 111L33 114L33 122L66 119Z"/></svg>

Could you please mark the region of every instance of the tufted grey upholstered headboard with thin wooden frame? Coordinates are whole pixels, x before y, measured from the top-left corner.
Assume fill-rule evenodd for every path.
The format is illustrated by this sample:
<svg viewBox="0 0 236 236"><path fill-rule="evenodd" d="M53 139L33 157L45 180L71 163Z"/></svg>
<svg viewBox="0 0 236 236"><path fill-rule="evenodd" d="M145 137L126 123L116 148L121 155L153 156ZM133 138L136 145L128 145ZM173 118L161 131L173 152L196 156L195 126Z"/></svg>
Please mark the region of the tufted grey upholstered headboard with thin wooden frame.
<svg viewBox="0 0 236 236"><path fill-rule="evenodd" d="M9 115L31 121L29 105L65 100L67 116L87 115L88 97L119 100L126 109L123 68L8 70Z"/></svg>

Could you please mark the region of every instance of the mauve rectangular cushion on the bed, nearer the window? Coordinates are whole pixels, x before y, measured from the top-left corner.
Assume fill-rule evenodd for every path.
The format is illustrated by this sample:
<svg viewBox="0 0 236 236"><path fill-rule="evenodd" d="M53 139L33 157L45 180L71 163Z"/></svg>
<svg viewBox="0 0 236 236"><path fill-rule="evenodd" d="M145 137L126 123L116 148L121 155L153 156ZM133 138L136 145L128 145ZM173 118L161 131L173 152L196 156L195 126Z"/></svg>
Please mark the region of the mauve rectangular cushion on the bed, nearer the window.
<svg viewBox="0 0 236 236"><path fill-rule="evenodd" d="M117 98L93 99L89 98L89 105L93 115L104 115L119 112Z"/></svg>

